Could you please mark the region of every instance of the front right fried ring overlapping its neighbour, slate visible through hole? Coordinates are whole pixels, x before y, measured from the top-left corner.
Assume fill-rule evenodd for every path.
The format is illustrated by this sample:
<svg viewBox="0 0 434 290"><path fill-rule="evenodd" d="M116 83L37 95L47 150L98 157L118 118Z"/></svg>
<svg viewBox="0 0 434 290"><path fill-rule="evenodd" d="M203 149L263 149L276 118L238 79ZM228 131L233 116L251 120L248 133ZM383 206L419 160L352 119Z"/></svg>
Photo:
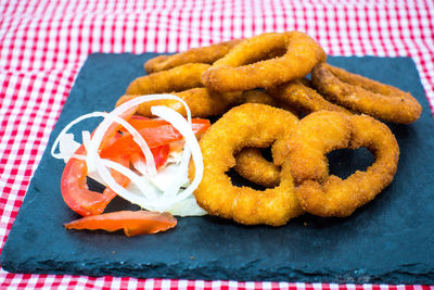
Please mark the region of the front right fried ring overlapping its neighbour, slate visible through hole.
<svg viewBox="0 0 434 290"><path fill-rule="evenodd" d="M348 216L373 200L396 173L399 147L383 123L367 115L320 111L298 122L289 137L288 162L302 207L320 216ZM368 148L375 162L348 178L330 175L326 154Z"/></svg>

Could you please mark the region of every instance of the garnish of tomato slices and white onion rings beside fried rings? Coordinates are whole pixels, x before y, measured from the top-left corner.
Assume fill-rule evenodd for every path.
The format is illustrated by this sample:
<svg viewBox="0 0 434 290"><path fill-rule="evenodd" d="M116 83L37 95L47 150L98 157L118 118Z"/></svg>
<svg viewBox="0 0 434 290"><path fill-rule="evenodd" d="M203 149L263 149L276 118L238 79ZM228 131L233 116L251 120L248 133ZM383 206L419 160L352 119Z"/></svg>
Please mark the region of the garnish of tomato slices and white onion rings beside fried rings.
<svg viewBox="0 0 434 290"><path fill-rule="evenodd" d="M133 116L140 103L165 99L181 102L186 106L187 119L165 106L152 108L153 114L159 118ZM82 131L80 144L67 130L90 117L104 119L92 134ZM74 119L61 131L51 149L54 157L66 162L61 184L65 203L76 213L87 216L88 219L82 220L90 220L80 222L84 228L93 229L98 225L99 229L112 231L114 218L117 229L124 228L127 236L152 232L140 229L141 226L131 230L137 225L149 228L146 223L135 224L132 219L125 218L137 216L135 213L123 211L118 215L102 214L116 194L146 210L141 212L154 212L151 215L153 218L161 214L162 220L167 218L164 212L180 216L204 215L206 212L197 205L192 192L201 181L203 172L202 152L195 135L208 127L209 121L192 119L184 101L173 94L141 96L111 113L94 112ZM55 152L58 146L59 153ZM195 175L190 184L188 167L191 157ZM104 192L89 190L87 177L103 184L106 187ZM146 216L140 215L139 219L146 219ZM122 227L117 218L123 220ZM72 224L74 222L67 225Z"/></svg>

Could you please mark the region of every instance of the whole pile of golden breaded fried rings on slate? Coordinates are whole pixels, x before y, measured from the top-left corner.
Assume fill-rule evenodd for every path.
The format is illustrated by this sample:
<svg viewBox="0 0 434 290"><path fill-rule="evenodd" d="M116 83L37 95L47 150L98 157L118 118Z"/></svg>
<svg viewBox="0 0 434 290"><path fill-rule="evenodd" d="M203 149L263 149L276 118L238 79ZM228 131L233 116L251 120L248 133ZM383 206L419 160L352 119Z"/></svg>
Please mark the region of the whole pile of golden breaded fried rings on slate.
<svg viewBox="0 0 434 290"><path fill-rule="evenodd" d="M159 55L144 68L148 75L135 79L117 105L174 93L193 116L218 116L200 140L204 175L194 196L209 214L246 225L281 226L306 212L350 215L397 169L398 143L379 119L409 124L421 114L410 93L328 64L322 48L299 31ZM186 114L174 100L141 104L137 113L151 116L152 105ZM271 148L272 162L263 148ZM357 148L372 153L371 166L344 180L329 174L329 152ZM227 175L232 167L266 189L234 186Z"/></svg>

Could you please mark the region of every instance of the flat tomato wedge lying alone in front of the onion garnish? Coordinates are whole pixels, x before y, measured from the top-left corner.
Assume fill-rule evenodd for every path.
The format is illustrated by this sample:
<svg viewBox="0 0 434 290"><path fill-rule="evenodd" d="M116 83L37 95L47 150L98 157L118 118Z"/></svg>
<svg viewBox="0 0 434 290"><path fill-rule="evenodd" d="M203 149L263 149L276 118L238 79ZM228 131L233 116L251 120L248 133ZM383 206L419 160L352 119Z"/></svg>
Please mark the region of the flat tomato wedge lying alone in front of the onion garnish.
<svg viewBox="0 0 434 290"><path fill-rule="evenodd" d="M124 229L127 237L132 237L165 231L176 225L177 219L169 213L120 211L86 216L64 226L67 229L102 229L106 231Z"/></svg>

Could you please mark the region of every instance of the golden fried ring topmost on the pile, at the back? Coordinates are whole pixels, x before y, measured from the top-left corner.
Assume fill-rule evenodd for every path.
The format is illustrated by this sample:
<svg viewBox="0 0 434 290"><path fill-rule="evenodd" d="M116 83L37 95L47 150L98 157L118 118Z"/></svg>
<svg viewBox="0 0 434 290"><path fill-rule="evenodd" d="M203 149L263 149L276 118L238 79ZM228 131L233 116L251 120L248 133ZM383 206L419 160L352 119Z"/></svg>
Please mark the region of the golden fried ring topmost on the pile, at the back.
<svg viewBox="0 0 434 290"><path fill-rule="evenodd" d="M279 50L284 50L282 56L264 60ZM225 92L270 88L306 76L326 58L321 47L303 33L263 34L235 46L201 80L206 87Z"/></svg>

